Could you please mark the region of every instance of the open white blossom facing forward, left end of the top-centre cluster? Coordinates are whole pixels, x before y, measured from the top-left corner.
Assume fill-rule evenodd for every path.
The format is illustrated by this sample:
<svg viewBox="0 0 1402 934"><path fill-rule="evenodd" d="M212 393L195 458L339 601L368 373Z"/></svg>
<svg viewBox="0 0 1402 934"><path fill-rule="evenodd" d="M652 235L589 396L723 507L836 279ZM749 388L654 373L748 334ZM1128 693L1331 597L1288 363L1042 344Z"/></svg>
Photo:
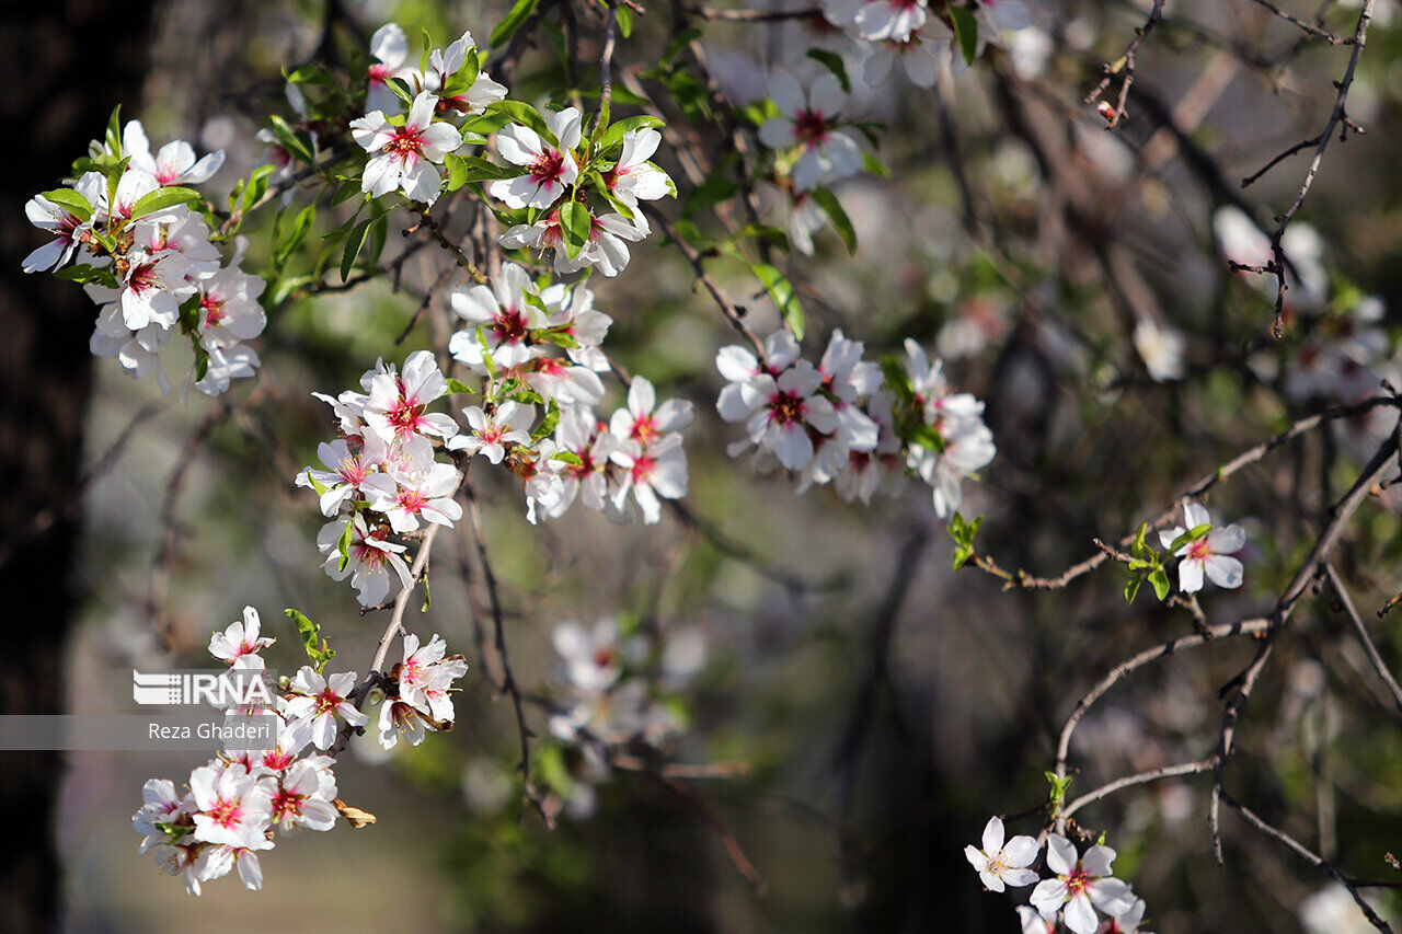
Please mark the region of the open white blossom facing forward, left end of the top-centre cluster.
<svg viewBox="0 0 1402 934"><path fill-rule="evenodd" d="M457 151L463 136L453 126L433 121L436 102L432 91L421 91L402 125L393 123L383 111L350 121L355 142L373 153L365 165L360 191L380 198L400 189L411 201L426 205L437 201L443 177L435 164Z"/></svg>

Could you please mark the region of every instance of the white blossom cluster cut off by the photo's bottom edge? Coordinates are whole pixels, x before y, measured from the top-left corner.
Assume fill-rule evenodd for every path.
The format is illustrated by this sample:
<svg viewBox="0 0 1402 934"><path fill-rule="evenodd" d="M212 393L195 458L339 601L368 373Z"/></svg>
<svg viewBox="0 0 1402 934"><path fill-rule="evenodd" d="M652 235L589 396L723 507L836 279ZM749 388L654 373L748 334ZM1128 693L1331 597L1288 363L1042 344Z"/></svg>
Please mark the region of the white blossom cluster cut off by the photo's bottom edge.
<svg viewBox="0 0 1402 934"><path fill-rule="evenodd" d="M1113 877L1110 847L1096 844L1078 854L1074 843L1059 833L1049 834L1046 869L1052 877L1040 879L1032 868L1040 844L1028 836L1007 840L998 818L988 819L980 844L965 847L965 857L984 886L1002 892L1007 886L1021 889L1036 884L1029 898L1032 905L1018 906L1025 933L1056 934L1059 921L1073 934L1138 931L1144 899ZM1103 926L1096 912L1106 916Z"/></svg>

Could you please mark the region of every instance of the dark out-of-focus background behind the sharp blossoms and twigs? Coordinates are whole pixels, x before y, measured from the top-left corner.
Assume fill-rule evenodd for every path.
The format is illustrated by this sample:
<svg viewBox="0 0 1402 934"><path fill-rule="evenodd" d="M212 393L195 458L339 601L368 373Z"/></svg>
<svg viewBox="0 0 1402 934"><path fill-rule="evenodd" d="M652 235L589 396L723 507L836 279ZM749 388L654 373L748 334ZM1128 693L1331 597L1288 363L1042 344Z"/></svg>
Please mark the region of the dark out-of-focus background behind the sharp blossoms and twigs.
<svg viewBox="0 0 1402 934"><path fill-rule="evenodd" d="M942 6L931 3L935 15ZM857 45L809 20L712 22L702 43L737 107L763 94L770 70L817 74L805 59L815 43L848 59L857 109L887 128L892 178L836 187L855 255L824 231L813 259L789 265L809 316L805 349L816 359L831 327L872 356L906 337L935 348L956 386L987 400L998 443L981 482L966 485L965 515L986 516L980 548L1005 568L1054 575L1092 554L1092 537L1131 532L1294 418L1398 380L1402 31L1395 4L1380 3L1347 109L1367 132L1330 146L1300 213L1301 272L1276 341L1273 282L1232 273L1227 258L1252 261L1259 231L1246 217L1270 229L1307 157L1251 188L1241 180L1319 132L1349 48L1251 0L1166 4L1138 52L1130 118L1108 133L1081 98L1150 4L1030 6L1032 27L928 90L900 76L866 86ZM1340 35L1359 15L1357 3L1284 6ZM656 62L679 11L658 4L638 18L620 46L622 74ZM223 149L210 182L220 191L266 158L255 132L266 114L289 112L283 67L345 62L390 20L412 48L421 29L436 46L464 28L485 43L503 14L432 0L64 0L7 14L0 578L14 609L0 711L122 705L128 669L205 665L210 631L244 604L280 639L269 665L299 663L280 614L297 607L327 627L338 669L363 669L380 624L320 569L321 517L292 485L325 436L310 393L350 387L377 356L401 359L446 327L440 316L395 346L416 299L388 282L292 302L264 338L259 379L236 387L231 407L161 400L150 381L90 358L93 306L76 286L18 271L38 243L20 222L24 202L56 184L116 104L157 144ZM599 8L576 3L572 22L583 57L597 57ZM541 41L510 87L544 97L561 80ZM683 177L666 151L659 160ZM705 210L693 220L711 223ZM251 236L250 255L266 252ZM401 240L391 224L387 250ZM405 264L404 285L437 279L429 252ZM743 269L712 272L732 295L753 292ZM343 757L341 797L377 823L282 843L261 893L226 878L195 899L137 857L130 815L146 778L181 781L198 763L6 753L0 928L1015 931L1011 900L981 889L963 846L993 813L1030 813L1009 827L1036 833L1043 771L1077 698L1119 661L1192 631L1192 617L1145 595L1127 606L1116 568L1052 592L955 574L923 485L868 509L827 488L795 495L791 480L728 459L737 432L714 414L714 356L732 332L693 286L690 265L656 241L624 275L594 282L614 317L611 353L659 397L697 402L686 520L614 526L575 510L530 526L515 480L482 471L478 489L527 691L551 690L561 623L613 618L660 634L674 648L663 668L684 724L667 762L718 766L718 777L679 792L648 771L590 774L531 710L537 774L559 809L548 830L522 812L509 701L470 672L453 733L394 756L356 743ZM777 327L765 302L751 307L757 331ZM1165 356L1145 321L1178 334L1180 352ZM1361 330L1359 349L1347 342ZM1209 621L1273 603L1385 431L1340 422L1214 492L1213 512L1242 523L1249 544L1246 585L1206 593ZM1370 621L1402 585L1389 495L1359 513L1340 557ZM475 670L494 661L471 652L479 620L463 579L474 574L470 541L453 537L435 561L432 607L411 616ZM1398 618L1375 630L1394 662ZM1252 652L1224 641L1117 687L1077 733L1073 795L1209 754L1214 691ZM1396 879L1384 854L1402 832L1402 742L1381 697L1342 617L1308 599L1248 707L1230 785L1347 874ZM1117 875L1148 900L1150 930L1370 930L1323 874L1235 815L1224 818L1227 865L1213 865L1207 788L1206 777L1157 783L1081 813L1119 850ZM1388 893L1378 902L1391 910Z"/></svg>

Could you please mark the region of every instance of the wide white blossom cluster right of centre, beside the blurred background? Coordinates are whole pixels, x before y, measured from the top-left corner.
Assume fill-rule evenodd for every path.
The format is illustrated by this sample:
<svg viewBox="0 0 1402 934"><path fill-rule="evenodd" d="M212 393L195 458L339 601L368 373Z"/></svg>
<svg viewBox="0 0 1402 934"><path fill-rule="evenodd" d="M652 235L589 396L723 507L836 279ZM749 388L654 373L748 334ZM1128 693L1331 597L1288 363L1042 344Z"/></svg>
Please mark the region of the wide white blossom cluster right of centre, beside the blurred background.
<svg viewBox="0 0 1402 934"><path fill-rule="evenodd" d="M763 359L742 346L722 348L716 367L729 380L716 401L721 418L744 422L730 456L757 447L798 474L798 491L834 482L848 501L871 502L903 467L934 488L941 519L959 508L962 482L995 453L983 402L952 393L938 359L906 342L908 367L862 359L861 342L834 331L819 366L799 358L798 342L777 331Z"/></svg>

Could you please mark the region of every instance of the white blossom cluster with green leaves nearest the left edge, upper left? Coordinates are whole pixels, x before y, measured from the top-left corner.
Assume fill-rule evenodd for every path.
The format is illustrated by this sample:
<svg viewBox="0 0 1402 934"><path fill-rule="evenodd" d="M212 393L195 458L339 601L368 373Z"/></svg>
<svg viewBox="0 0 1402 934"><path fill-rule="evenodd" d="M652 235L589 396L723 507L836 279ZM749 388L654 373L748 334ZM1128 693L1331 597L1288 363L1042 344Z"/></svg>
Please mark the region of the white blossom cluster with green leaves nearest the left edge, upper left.
<svg viewBox="0 0 1402 934"><path fill-rule="evenodd" d="M175 383L184 393L192 381L219 395L230 380L254 374L258 355L245 341L266 325L264 280L240 271L244 241L236 240L224 264L216 245L223 234L210 230L209 206L186 187L219 171L223 153L196 160L189 143L175 140L153 154L139 121L118 132L115 118L105 140L74 163L67 187L25 205L29 223L50 240L25 257L24 271L84 285L98 306L94 355L116 358L135 379L156 373L163 393ZM185 341L172 342L177 332Z"/></svg>

